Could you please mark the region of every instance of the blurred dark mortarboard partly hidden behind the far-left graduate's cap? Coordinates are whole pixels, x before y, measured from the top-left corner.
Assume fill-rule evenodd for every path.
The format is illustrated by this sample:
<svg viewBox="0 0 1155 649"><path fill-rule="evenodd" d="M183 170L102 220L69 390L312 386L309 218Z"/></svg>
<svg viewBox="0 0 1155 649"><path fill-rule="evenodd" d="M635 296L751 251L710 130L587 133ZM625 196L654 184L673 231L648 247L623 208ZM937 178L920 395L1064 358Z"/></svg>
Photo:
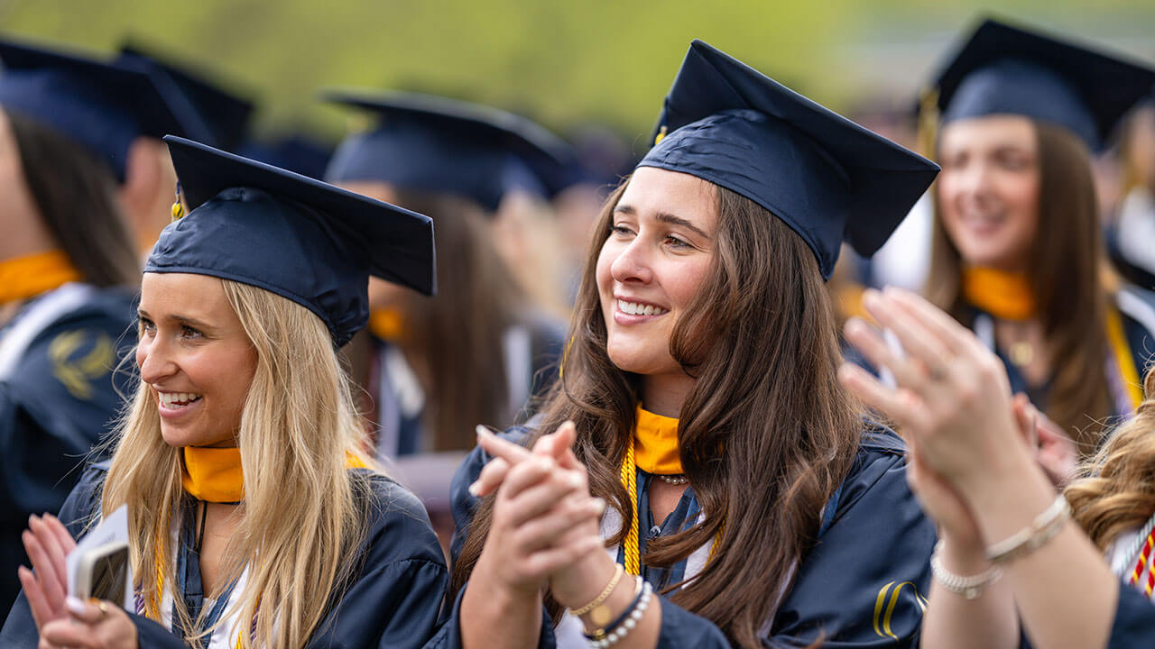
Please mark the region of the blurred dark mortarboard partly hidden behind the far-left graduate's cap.
<svg viewBox="0 0 1155 649"><path fill-rule="evenodd" d="M181 121L200 121L211 136L207 144L233 150L245 137L253 103L209 82L188 65L177 64L134 44L120 47L118 62L142 66ZM179 111L179 112L178 112Z"/></svg>

